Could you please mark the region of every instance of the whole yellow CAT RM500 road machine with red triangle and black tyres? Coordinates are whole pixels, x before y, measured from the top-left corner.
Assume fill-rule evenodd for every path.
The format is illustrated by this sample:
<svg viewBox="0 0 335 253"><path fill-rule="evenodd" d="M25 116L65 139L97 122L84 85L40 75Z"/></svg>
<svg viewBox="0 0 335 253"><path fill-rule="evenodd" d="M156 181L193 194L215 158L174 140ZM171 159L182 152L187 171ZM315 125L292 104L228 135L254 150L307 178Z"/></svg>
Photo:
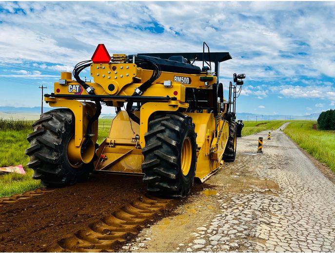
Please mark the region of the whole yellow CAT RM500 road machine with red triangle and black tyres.
<svg viewBox="0 0 335 253"><path fill-rule="evenodd" d="M185 196L194 177L203 182L223 160L234 161L236 87L245 75L234 74L224 99L219 63L231 56L205 46L202 53L110 57L99 44L92 60L75 66L76 81L62 72L54 93L45 95L60 109L42 114L27 137L33 177L61 187L94 171L143 175L150 193ZM87 67L94 82L79 77ZM98 145L101 103L116 107L117 115Z"/></svg>

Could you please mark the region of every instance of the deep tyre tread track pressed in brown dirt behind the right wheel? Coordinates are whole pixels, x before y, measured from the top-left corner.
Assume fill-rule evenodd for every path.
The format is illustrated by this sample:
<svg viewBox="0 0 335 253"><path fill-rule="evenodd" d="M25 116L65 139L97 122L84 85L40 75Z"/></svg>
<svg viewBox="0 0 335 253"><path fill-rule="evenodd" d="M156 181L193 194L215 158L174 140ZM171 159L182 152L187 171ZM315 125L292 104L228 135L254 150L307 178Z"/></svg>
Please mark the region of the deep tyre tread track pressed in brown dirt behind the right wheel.
<svg viewBox="0 0 335 253"><path fill-rule="evenodd" d="M49 252L101 252L114 251L122 242L133 239L145 225L153 223L173 199L143 196L116 210L98 222L90 224L70 237L61 239Z"/></svg>

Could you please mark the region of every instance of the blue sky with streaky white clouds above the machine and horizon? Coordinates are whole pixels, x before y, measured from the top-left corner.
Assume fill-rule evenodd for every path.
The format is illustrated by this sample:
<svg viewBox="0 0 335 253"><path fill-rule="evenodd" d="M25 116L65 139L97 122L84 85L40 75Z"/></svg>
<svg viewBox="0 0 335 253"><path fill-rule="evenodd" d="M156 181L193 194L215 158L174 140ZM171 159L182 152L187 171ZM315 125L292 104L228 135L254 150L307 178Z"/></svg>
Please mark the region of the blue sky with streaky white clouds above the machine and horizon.
<svg viewBox="0 0 335 253"><path fill-rule="evenodd" d="M0 2L0 106L39 106L39 85L52 92L99 43L136 54L198 52L206 41L233 57L220 66L224 86L247 76L237 112L334 109L334 13L334 2Z"/></svg>

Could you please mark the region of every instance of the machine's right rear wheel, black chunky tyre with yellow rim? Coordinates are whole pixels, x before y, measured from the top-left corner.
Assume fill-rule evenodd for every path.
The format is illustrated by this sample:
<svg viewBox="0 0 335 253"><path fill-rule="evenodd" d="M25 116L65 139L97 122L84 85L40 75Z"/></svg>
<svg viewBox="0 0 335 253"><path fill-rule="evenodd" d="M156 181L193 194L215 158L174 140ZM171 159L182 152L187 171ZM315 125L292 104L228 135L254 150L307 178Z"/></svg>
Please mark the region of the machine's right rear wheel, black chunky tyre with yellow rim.
<svg viewBox="0 0 335 253"><path fill-rule="evenodd" d="M142 149L147 191L175 197L190 192L196 172L196 137L192 117L184 114L160 114L149 122Z"/></svg>

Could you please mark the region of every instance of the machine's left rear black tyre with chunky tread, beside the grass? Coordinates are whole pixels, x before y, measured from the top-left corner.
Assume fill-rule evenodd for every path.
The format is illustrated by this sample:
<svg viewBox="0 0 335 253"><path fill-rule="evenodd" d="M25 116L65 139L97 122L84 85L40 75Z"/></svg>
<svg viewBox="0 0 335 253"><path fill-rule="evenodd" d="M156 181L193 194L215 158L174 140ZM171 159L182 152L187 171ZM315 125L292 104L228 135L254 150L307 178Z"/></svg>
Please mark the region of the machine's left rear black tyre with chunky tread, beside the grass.
<svg viewBox="0 0 335 253"><path fill-rule="evenodd" d="M75 133L75 117L69 109L55 109L43 113L33 124L34 132L28 135L30 147L29 168L34 179L47 187L63 187L88 179L93 162L71 165L67 146Z"/></svg>

